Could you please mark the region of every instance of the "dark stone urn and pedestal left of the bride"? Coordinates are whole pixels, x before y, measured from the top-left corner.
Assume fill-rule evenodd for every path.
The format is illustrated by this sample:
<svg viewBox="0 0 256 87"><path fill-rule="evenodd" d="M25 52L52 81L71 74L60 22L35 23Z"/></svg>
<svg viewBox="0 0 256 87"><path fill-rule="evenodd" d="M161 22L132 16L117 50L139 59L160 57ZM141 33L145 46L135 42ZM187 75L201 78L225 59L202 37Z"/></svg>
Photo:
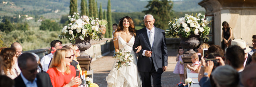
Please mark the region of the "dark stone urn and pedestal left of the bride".
<svg viewBox="0 0 256 87"><path fill-rule="evenodd" d="M83 71L90 70L90 63L92 58L90 58L90 56L85 53L85 50L91 47L90 40L90 37L85 37L83 41L79 38L75 39L75 45L81 51L80 56L77 57L77 61L79 62L79 65Z"/></svg>

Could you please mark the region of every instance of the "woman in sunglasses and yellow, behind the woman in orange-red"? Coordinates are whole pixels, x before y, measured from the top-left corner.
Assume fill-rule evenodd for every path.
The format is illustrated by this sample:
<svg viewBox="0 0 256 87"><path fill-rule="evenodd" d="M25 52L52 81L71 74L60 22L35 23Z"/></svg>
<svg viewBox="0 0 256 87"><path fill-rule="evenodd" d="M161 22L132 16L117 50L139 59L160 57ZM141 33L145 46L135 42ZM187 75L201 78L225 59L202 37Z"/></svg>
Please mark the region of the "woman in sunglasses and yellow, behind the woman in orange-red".
<svg viewBox="0 0 256 87"><path fill-rule="evenodd" d="M80 56L80 52L81 51L79 50L79 48L76 45L70 45L70 47L72 48L72 50L73 50L73 52L75 54L73 60L75 61L75 64L77 65L77 69L80 70L80 75L82 75L82 69L81 69L81 67L79 65L79 62L77 61L77 57Z"/></svg>

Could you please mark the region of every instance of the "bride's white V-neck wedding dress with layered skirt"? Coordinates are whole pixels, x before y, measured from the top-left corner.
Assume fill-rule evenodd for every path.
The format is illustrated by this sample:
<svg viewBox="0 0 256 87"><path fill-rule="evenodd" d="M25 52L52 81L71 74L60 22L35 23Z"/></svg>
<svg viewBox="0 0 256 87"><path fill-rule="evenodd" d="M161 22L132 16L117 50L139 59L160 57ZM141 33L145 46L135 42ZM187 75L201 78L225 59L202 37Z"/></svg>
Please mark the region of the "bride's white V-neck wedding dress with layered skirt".
<svg viewBox="0 0 256 87"><path fill-rule="evenodd" d="M116 60L114 61L112 69L106 77L108 87L141 87L142 81L137 69L138 59L132 48L135 37L133 36L128 43L126 43L126 41L119 35L117 38L119 49L122 51L130 51L131 54L133 54L133 61L130 62L130 66L122 65L122 68L119 68L118 70L117 67L115 67Z"/></svg>

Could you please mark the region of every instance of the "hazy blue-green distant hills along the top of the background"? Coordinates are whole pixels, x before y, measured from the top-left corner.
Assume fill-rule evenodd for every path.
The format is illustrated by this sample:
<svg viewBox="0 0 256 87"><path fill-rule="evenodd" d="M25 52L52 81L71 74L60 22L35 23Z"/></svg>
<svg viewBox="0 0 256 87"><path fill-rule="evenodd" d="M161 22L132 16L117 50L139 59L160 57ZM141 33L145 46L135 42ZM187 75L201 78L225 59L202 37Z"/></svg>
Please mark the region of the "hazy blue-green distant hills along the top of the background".
<svg viewBox="0 0 256 87"><path fill-rule="evenodd" d="M3 1L7 3L3 3ZM88 0L86 0L88 1ZM202 0L173 1L173 10L179 12L205 11L198 5ZM98 7L102 3L102 9L107 10L108 0L98 0ZM80 12L81 0L78 0L78 12ZM46 18L60 18L62 14L69 13L70 0L1 0L0 17L16 14L28 14L29 16L44 16ZM111 0L113 12L141 12L146 10L148 1L140 0Z"/></svg>

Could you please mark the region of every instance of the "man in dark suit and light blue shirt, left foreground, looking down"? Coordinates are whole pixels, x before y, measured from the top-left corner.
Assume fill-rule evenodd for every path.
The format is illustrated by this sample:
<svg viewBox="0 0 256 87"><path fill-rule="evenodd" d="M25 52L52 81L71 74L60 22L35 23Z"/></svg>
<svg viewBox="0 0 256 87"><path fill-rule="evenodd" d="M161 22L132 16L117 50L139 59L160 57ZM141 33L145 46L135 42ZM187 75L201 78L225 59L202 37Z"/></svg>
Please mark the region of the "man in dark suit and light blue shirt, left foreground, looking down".
<svg viewBox="0 0 256 87"><path fill-rule="evenodd" d="M38 64L33 54L21 54L18 64L21 74L14 79L15 87L52 87L49 74L37 73Z"/></svg>

